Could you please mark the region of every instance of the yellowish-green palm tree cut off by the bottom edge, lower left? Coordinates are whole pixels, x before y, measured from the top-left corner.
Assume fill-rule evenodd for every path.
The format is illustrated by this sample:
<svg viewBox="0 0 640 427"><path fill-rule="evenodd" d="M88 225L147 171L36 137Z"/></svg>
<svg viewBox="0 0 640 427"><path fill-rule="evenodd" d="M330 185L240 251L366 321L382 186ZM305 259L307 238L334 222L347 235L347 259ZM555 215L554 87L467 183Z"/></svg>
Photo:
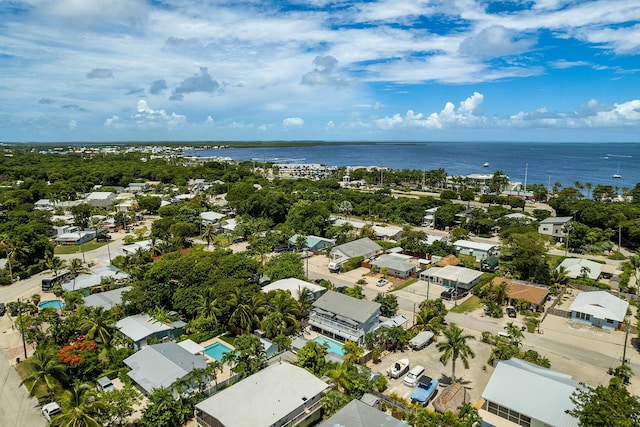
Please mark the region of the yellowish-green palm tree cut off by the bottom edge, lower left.
<svg viewBox="0 0 640 427"><path fill-rule="evenodd" d="M60 398L62 414L55 417L55 425L69 427L100 427L94 414L103 408L97 391L89 384L76 382Z"/></svg>

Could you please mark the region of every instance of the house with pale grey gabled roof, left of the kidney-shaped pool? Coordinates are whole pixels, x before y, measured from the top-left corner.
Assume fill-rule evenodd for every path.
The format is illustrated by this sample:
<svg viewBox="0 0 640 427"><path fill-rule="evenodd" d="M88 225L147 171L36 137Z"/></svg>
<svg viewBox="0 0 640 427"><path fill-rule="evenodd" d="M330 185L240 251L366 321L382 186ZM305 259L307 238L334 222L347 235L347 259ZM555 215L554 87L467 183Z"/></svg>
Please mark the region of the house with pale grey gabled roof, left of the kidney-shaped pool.
<svg viewBox="0 0 640 427"><path fill-rule="evenodd" d="M194 369L207 367L207 359L202 354L192 354L174 342L153 344L124 359L131 369L127 375L142 390L150 394L154 389L170 389L174 398L178 390L171 385L187 377ZM191 385L195 388L196 384Z"/></svg>

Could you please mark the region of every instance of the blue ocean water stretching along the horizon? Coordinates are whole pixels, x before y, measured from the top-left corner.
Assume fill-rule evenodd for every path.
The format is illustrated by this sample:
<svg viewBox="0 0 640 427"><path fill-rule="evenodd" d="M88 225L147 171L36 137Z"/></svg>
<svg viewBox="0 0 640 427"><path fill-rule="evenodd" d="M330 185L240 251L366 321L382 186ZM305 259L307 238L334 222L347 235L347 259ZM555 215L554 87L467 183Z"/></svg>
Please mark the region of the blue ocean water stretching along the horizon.
<svg viewBox="0 0 640 427"><path fill-rule="evenodd" d="M297 143L289 146L230 147L195 150L196 156L276 163L320 163L328 166L384 166L433 170L449 175L493 174L511 181L544 184L575 181L632 188L640 182L640 143L379 142ZM489 167L483 164L489 163ZM621 178L613 178L614 174Z"/></svg>

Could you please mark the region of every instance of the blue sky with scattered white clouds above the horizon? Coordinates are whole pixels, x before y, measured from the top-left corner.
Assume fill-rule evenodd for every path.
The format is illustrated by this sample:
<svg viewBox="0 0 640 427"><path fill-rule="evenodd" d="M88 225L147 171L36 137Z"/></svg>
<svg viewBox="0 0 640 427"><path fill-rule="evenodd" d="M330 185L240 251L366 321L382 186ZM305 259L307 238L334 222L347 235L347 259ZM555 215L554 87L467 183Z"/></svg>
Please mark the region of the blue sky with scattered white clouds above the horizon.
<svg viewBox="0 0 640 427"><path fill-rule="evenodd" d="M638 0L4 0L0 140L640 140Z"/></svg>

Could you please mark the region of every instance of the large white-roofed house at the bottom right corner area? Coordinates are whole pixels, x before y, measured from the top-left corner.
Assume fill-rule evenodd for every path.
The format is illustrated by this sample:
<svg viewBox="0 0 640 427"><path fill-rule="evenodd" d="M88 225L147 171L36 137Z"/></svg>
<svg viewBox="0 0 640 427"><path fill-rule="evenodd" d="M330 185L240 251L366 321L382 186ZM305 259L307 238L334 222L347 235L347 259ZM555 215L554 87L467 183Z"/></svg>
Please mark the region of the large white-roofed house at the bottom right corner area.
<svg viewBox="0 0 640 427"><path fill-rule="evenodd" d="M498 362L482 392L480 416L490 425L577 427L567 414L575 408L572 394L584 385L570 375L520 359ZM509 424L511 425L511 424Z"/></svg>

